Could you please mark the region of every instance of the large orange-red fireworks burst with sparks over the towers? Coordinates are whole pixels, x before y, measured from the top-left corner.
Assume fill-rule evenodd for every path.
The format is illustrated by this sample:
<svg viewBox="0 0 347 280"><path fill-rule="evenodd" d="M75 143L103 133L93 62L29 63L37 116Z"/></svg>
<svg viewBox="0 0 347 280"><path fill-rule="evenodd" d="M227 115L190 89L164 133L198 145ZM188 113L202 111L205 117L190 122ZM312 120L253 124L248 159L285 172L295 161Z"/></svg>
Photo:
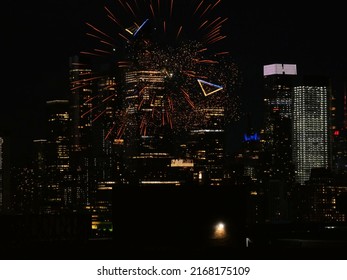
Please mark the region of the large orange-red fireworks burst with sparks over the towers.
<svg viewBox="0 0 347 280"><path fill-rule="evenodd" d="M217 13L220 0L114 4L105 7L112 30L87 23L87 35L98 47L81 54L108 67L73 81L73 89L99 81L83 116L96 121L107 115L106 137L118 139L134 127L146 135L158 127L180 131L212 125L215 117L237 118L238 70L228 52L214 47L226 37L221 30L227 19ZM105 82L110 77L113 82Z"/></svg>

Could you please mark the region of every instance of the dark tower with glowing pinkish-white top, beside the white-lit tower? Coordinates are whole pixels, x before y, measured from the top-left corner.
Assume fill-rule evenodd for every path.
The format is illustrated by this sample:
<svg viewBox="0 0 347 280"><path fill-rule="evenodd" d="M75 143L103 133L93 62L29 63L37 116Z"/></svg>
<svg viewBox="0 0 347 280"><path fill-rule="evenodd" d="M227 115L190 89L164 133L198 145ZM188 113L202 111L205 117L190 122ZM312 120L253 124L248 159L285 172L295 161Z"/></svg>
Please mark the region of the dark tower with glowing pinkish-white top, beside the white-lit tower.
<svg viewBox="0 0 347 280"><path fill-rule="evenodd" d="M264 173L269 179L293 181L292 90L297 79L295 64L264 66Z"/></svg>

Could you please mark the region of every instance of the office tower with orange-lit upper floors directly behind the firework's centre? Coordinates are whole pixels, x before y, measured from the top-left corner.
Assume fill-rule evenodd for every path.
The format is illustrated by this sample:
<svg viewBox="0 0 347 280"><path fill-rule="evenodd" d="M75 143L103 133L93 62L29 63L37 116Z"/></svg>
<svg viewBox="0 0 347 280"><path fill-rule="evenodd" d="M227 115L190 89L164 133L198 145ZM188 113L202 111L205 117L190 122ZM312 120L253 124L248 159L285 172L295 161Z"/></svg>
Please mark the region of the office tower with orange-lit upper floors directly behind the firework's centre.
<svg viewBox="0 0 347 280"><path fill-rule="evenodd" d="M126 180L130 185L167 186L178 183L168 176L173 158L170 129L152 119L153 115L163 110L164 78L162 71L155 70L125 73L124 103L129 119L122 139Z"/></svg>

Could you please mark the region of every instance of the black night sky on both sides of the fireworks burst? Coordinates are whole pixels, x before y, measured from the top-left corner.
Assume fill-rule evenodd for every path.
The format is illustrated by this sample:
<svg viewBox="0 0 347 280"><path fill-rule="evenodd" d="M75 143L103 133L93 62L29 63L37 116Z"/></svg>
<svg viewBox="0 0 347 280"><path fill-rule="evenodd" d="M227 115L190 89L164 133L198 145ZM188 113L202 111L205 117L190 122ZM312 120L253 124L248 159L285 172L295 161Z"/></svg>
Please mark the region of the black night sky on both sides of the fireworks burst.
<svg viewBox="0 0 347 280"><path fill-rule="evenodd" d="M85 49L85 22L104 22L103 4L109 2L6 2L1 9L5 76L0 126L8 129L13 143L19 145L16 159L30 155L33 139L45 137L45 102L67 98L69 56ZM230 51L241 70L241 108L252 113L256 128L261 125L264 64L295 63L299 74L328 75L341 88L347 76L347 25L342 7L318 2L314 6L278 2L261 7L248 2L222 2L219 10L228 17L224 49ZM337 98L342 104L341 92Z"/></svg>

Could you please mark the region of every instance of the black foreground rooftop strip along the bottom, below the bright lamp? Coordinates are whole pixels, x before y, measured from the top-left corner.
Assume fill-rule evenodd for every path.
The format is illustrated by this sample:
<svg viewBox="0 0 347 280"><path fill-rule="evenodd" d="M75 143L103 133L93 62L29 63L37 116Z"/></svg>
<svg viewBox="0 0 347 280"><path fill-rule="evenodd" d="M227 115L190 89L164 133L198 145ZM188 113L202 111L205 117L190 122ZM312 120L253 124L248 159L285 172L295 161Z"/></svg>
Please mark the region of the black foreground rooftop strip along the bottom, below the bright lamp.
<svg viewBox="0 0 347 280"><path fill-rule="evenodd" d="M322 235L268 235L267 238L244 240L209 240L189 244L183 241L132 243L131 240L90 239L84 241L34 241L30 243L2 240L1 259L31 260L335 260L347 259L347 237L329 229ZM162 241L162 240L161 240ZM248 243L248 244L247 244ZM248 247L246 247L246 244ZM242 245L242 246L241 246Z"/></svg>

